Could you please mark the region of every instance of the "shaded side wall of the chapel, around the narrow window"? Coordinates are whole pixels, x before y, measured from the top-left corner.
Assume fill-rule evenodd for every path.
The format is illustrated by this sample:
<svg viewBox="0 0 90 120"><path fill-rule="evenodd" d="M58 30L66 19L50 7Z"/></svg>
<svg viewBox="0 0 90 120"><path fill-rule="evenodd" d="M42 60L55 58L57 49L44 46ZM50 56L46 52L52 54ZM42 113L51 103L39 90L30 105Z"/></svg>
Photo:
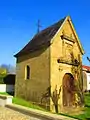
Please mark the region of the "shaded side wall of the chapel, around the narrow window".
<svg viewBox="0 0 90 120"><path fill-rule="evenodd" d="M44 47L41 50L19 57L16 67L15 95L33 102L41 102L42 95L50 86L49 64L49 47ZM30 66L29 80L25 80L26 65Z"/></svg>

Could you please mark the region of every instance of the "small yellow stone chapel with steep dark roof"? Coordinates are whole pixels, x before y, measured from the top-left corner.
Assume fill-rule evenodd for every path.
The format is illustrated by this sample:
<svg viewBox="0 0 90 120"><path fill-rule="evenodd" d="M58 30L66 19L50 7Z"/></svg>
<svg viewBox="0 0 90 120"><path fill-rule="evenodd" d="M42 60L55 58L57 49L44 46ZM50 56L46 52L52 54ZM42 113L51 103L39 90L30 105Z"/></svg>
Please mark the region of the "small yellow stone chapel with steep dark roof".
<svg viewBox="0 0 90 120"><path fill-rule="evenodd" d="M79 81L80 90L83 88L83 54L69 16L42 30L15 55L15 95L56 112L61 107L73 106L74 82Z"/></svg>

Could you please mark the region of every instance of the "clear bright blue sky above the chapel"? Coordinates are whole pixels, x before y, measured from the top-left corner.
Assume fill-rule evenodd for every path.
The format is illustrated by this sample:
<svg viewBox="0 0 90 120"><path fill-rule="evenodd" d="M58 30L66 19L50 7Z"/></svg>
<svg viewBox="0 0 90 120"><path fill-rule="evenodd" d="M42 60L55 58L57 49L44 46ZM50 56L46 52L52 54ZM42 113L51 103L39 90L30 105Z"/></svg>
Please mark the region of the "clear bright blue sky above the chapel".
<svg viewBox="0 0 90 120"><path fill-rule="evenodd" d="M90 65L90 0L0 0L0 64L16 64L13 57L41 29L70 15Z"/></svg>

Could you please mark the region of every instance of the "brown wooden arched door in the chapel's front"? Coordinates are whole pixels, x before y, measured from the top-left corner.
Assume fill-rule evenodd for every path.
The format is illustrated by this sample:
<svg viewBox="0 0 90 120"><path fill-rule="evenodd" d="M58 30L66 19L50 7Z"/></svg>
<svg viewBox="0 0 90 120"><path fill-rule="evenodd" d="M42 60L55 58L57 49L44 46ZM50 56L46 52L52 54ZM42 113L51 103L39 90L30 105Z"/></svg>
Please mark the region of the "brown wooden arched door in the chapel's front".
<svg viewBox="0 0 90 120"><path fill-rule="evenodd" d="M63 106L72 106L75 100L74 77L71 73L66 73L63 77Z"/></svg>

